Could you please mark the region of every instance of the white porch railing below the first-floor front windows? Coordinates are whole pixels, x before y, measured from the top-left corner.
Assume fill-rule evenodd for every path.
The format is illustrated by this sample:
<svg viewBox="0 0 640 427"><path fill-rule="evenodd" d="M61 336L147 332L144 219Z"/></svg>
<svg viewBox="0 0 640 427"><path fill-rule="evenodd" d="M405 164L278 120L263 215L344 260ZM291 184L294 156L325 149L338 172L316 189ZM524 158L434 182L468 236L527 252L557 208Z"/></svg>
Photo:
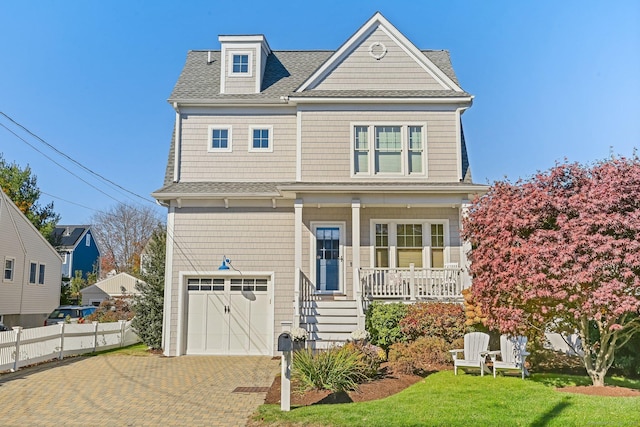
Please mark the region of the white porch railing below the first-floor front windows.
<svg viewBox="0 0 640 427"><path fill-rule="evenodd" d="M458 267L447 268L361 268L363 298L415 301L462 301Z"/></svg>

